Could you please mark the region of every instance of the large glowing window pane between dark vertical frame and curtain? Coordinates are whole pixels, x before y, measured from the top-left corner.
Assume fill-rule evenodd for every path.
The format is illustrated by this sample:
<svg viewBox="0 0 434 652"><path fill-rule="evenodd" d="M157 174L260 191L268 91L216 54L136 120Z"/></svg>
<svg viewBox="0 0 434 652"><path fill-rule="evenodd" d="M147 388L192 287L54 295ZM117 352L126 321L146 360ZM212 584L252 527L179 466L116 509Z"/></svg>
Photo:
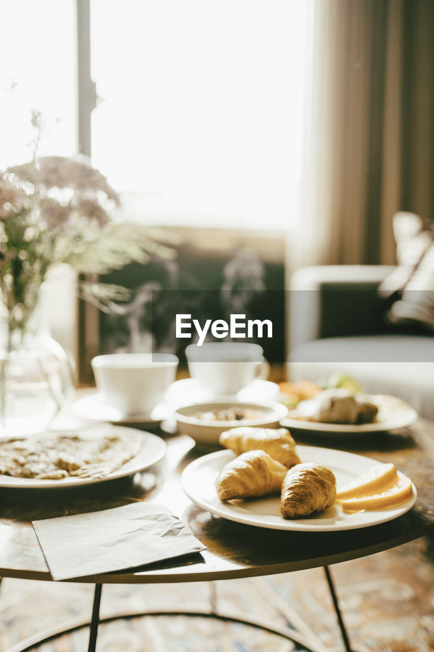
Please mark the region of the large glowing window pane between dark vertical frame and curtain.
<svg viewBox="0 0 434 652"><path fill-rule="evenodd" d="M130 215L181 226L289 226L308 4L91 0L100 96L93 162L126 191Z"/></svg>

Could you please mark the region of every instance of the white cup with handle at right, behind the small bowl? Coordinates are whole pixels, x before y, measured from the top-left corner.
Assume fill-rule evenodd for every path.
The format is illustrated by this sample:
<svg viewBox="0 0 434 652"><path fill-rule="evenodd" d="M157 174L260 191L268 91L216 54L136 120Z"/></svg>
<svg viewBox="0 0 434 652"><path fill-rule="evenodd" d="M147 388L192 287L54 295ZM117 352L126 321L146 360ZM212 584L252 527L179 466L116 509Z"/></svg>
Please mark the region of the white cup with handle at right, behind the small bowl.
<svg viewBox="0 0 434 652"><path fill-rule="evenodd" d="M259 344L207 342L186 349L190 376L214 396L235 396L255 378L267 378L268 363Z"/></svg>

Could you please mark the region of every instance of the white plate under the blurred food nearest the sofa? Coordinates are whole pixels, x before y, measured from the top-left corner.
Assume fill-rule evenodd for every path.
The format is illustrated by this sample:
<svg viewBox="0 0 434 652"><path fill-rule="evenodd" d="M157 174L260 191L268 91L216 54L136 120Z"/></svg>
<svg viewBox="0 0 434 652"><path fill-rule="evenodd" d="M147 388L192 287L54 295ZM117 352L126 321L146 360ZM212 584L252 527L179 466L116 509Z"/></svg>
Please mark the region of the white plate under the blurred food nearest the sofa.
<svg viewBox="0 0 434 652"><path fill-rule="evenodd" d="M303 421L286 417L280 422L285 428L298 428L298 430L312 430L315 432L334 433L366 433L384 432L407 428L416 421L418 413L408 403L396 396L385 394L366 394L367 400L378 406L377 420L373 423L363 423L358 426L341 423L320 423L319 421Z"/></svg>

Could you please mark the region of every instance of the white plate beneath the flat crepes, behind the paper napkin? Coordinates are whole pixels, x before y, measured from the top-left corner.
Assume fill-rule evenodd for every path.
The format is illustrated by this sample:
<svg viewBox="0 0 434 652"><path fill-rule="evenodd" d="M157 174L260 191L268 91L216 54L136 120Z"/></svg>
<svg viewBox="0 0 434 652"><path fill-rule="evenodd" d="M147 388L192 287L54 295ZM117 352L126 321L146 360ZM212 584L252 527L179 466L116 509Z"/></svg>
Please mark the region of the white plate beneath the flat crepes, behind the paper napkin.
<svg viewBox="0 0 434 652"><path fill-rule="evenodd" d="M12 489L63 489L85 484L96 484L97 482L115 480L116 478L123 478L126 475L134 475L134 473L144 471L158 460L161 460L166 454L166 443L160 437L152 435L151 432L123 428L122 426L104 426L104 428L100 426L98 429L92 428L89 432L97 435L98 430L100 430L101 434L108 434L108 429L113 434L120 434L121 432L126 432L130 436L135 434L142 441L139 452L134 458L119 467L117 471L113 471L113 473L109 473L103 478L68 477L61 480L35 480L34 478L14 478L10 475L0 475L0 487Z"/></svg>

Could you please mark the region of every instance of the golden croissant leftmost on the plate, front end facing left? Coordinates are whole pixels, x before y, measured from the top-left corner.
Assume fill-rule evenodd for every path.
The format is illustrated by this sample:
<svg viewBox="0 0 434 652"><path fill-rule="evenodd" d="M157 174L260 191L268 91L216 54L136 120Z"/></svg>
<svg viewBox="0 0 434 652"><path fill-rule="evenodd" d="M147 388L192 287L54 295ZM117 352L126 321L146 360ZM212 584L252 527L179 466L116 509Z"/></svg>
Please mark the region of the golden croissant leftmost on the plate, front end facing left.
<svg viewBox="0 0 434 652"><path fill-rule="evenodd" d="M265 451L248 451L232 460L220 473L216 490L221 501L280 492L287 467Z"/></svg>

